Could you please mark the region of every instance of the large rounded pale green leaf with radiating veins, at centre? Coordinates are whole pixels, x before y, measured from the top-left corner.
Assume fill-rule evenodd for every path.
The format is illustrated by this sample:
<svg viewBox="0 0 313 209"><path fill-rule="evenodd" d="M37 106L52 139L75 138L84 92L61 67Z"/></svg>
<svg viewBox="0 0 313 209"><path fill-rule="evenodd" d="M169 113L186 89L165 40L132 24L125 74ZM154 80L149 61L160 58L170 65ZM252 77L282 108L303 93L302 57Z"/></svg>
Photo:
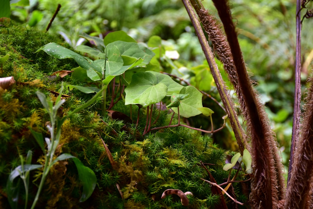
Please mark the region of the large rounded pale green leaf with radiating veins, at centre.
<svg viewBox="0 0 313 209"><path fill-rule="evenodd" d="M167 93L167 86L151 72L138 72L125 88L125 105L141 104L143 107L160 102Z"/></svg>

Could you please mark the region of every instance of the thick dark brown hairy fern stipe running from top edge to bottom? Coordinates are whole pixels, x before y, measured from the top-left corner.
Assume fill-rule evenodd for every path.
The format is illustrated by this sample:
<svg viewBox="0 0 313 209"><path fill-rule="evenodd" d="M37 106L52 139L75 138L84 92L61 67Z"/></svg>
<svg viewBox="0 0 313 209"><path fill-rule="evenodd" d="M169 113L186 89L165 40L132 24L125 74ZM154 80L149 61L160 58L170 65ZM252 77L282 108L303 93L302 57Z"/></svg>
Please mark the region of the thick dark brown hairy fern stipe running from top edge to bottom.
<svg viewBox="0 0 313 209"><path fill-rule="evenodd" d="M241 92L239 99L242 96L241 99L244 100L245 109L242 111L251 137L253 180L250 201L253 208L277 208L278 201L284 198L284 180L283 166L274 133L270 128L264 107L256 99L256 93L252 89L228 3L225 0L213 0L213 3L223 23L231 50L238 78L238 84L235 82L233 85L235 88L240 88L237 92Z"/></svg>

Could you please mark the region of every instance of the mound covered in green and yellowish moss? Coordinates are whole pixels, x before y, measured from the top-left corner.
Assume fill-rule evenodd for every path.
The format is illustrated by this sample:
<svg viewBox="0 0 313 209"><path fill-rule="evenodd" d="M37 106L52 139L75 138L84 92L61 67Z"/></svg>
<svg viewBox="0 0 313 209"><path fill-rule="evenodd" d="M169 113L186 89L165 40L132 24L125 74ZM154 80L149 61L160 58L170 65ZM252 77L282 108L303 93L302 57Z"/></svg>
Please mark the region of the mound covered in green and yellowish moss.
<svg viewBox="0 0 313 209"><path fill-rule="evenodd" d="M54 71L76 67L73 60L57 60L44 52L33 53L49 42L70 48L68 44L54 35L17 25L9 19L1 19L0 24L4 25L0 27L0 56L10 54L1 76L14 76L17 81L8 90L0 88L0 207L9 208L6 182L11 170L21 164L20 156L25 158L28 150L32 150L32 164L44 164L44 155L30 128L50 137L46 128L49 117L35 92L44 92L54 100L55 95L49 92L58 92L61 81L65 85L77 85L78 82L69 76L62 79L49 77ZM70 97L59 109L60 118L91 97L67 88L64 94ZM213 195L210 185L200 179L209 179L201 161L213 164L209 171L218 182L228 178L228 172L222 169L224 150L213 145L211 138L184 127L142 136L146 121L143 112L136 126L99 116L100 103L101 98L63 124L55 153L70 153L90 167L97 176L95 191L87 201L79 202L82 188L75 165L71 160L59 161L50 170L38 208L186 208L178 196L161 199L166 189L191 191L193 196L188 196L188 208L214 208L218 205L219 197ZM128 113L130 107L120 101L115 110ZM162 112L158 125L167 125L169 121L167 112ZM115 166L111 165L101 138L108 145ZM232 176L235 172L232 171ZM29 202L32 202L42 170L30 174ZM237 180L243 178L239 175ZM233 185L237 200L246 201L247 196L243 195L240 183ZM20 184L20 208L24 208L24 190ZM232 204L230 199L226 198L226 201Z"/></svg>

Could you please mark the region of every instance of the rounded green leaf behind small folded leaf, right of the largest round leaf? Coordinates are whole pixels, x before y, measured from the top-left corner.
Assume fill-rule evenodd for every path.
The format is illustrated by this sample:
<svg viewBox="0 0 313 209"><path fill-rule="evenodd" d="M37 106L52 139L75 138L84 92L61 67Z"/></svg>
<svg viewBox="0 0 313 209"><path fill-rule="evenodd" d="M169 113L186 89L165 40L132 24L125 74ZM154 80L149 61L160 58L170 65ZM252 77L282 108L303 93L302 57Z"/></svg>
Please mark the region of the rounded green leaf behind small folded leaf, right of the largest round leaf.
<svg viewBox="0 0 313 209"><path fill-rule="evenodd" d="M202 107L202 94L193 86L184 86L179 91L179 94L189 94L189 97L180 101L179 114L185 118L201 114L198 110ZM178 113L177 107L172 107L175 113Z"/></svg>

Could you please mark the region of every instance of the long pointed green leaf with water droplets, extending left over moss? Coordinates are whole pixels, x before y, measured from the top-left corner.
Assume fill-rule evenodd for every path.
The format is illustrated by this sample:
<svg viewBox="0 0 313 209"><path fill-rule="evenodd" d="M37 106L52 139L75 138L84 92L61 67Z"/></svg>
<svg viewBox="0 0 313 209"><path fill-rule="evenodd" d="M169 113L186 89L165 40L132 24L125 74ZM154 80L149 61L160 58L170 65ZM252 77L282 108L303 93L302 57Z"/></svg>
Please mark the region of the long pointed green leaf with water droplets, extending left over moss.
<svg viewBox="0 0 313 209"><path fill-rule="evenodd" d="M43 50L48 55L53 56L58 59L65 59L65 58L73 58L79 66L84 68L85 70L89 70L90 68L95 69L96 71L101 71L98 69L98 66L92 63L87 57L84 57L76 52L69 50L63 46L60 46L56 43L49 43L38 49L36 52Z"/></svg>

